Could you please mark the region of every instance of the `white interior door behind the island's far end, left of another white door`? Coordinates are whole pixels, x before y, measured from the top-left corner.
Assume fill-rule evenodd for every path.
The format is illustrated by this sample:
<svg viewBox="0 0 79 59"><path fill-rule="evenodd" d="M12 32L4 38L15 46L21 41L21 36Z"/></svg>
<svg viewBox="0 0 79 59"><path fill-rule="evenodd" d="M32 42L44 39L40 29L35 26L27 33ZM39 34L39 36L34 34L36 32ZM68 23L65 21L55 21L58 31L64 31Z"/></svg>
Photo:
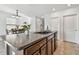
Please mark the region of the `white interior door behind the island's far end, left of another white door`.
<svg viewBox="0 0 79 59"><path fill-rule="evenodd" d="M54 31L56 30L58 32L57 39L60 39L60 18L55 17L51 19L50 22L51 30Z"/></svg>

